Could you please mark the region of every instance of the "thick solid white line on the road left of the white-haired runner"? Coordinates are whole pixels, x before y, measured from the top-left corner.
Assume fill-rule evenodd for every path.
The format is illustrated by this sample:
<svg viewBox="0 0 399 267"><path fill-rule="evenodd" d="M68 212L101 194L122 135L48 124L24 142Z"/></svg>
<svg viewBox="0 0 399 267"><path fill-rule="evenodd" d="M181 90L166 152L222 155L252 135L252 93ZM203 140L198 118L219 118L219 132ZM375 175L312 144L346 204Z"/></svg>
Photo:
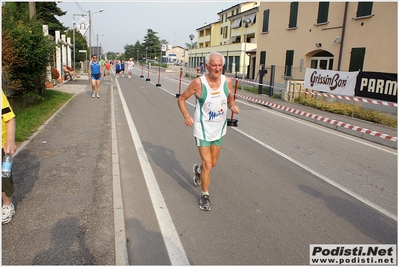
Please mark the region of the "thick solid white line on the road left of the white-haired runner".
<svg viewBox="0 0 399 267"><path fill-rule="evenodd" d="M141 169L143 171L144 179L147 184L148 192L151 197L152 205L157 216L159 228L161 229L163 240L168 251L169 259L172 265L190 265L187 255L184 252L183 245L180 242L179 235L177 234L175 225L173 224L172 217L166 206L165 200L162 196L161 190L158 186L154 172L152 171L151 164L145 153L143 144L141 143L140 136L134 125L133 118L129 113L125 98L123 97L122 90L116 80L119 95L122 101L123 110L130 129L130 134L136 147Z"/></svg>

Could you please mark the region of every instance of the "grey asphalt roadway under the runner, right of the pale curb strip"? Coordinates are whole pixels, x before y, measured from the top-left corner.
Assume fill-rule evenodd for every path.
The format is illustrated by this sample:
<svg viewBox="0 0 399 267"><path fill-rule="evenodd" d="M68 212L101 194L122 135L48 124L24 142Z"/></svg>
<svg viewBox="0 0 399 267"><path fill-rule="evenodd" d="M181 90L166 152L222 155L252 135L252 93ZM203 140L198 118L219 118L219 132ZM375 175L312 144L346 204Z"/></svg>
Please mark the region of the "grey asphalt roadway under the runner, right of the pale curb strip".
<svg viewBox="0 0 399 267"><path fill-rule="evenodd" d="M178 84L139 75L114 90L129 264L302 265L310 244L396 244L396 150L242 101L201 211Z"/></svg>

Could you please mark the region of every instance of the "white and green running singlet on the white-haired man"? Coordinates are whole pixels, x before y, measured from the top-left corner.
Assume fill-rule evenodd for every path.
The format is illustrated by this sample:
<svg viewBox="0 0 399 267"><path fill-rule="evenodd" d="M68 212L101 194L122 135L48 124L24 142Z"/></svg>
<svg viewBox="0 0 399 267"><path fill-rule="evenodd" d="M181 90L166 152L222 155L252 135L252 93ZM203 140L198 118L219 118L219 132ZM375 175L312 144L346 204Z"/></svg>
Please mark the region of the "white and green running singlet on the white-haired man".
<svg viewBox="0 0 399 267"><path fill-rule="evenodd" d="M220 76L220 86L212 89L205 75L201 76L202 93L194 111L194 136L205 141L215 141L226 134L227 87L226 76Z"/></svg>

